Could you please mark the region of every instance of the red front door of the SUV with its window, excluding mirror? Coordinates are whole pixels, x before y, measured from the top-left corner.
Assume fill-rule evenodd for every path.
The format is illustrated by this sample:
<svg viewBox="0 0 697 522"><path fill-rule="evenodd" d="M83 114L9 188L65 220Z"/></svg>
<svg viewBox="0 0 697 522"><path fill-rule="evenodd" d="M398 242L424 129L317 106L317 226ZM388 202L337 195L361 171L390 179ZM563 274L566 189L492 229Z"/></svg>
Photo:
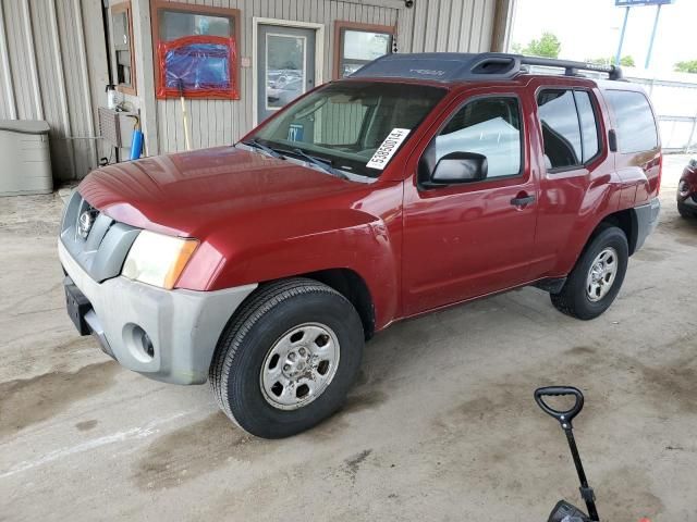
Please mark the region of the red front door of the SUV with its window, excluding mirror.
<svg viewBox="0 0 697 522"><path fill-rule="evenodd" d="M424 152L409 160L414 173L404 196L405 315L527 282L537 182L525 114L531 114L531 107L522 88L470 91L455 100ZM451 152L486 156L488 177L424 187L427 171Z"/></svg>

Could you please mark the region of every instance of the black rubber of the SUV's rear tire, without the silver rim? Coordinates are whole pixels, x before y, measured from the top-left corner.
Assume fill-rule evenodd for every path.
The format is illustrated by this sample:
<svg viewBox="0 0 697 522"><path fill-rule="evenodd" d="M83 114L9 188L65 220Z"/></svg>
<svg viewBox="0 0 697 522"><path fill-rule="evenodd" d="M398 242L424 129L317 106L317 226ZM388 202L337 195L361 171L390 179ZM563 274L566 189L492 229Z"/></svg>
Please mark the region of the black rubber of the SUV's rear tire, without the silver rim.
<svg viewBox="0 0 697 522"><path fill-rule="evenodd" d="M617 272L608 293L600 300L592 301L586 291L586 278L595 259L608 247L617 252ZM616 226L600 225L576 261L561 291L550 294L552 304L557 310L572 318L584 321L596 319L617 297L627 271L629 247L624 232Z"/></svg>

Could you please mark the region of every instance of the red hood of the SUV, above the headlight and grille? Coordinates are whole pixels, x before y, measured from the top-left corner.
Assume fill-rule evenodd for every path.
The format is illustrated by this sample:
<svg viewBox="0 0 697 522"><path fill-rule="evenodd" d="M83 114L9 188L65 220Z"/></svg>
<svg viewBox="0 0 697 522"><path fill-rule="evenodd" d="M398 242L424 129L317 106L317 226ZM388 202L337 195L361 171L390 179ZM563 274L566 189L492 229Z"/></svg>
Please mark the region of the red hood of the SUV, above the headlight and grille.
<svg viewBox="0 0 697 522"><path fill-rule="evenodd" d="M304 208L360 186L291 161L219 147L109 165L90 173L78 190L122 223L201 238L221 220Z"/></svg>

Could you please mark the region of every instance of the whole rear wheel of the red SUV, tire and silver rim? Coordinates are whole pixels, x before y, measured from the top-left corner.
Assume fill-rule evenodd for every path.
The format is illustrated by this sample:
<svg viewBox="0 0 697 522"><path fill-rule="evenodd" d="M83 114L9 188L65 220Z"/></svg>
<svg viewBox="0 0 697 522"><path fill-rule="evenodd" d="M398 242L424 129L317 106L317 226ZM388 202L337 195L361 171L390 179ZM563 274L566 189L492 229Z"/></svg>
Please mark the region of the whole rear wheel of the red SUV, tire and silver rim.
<svg viewBox="0 0 697 522"><path fill-rule="evenodd" d="M580 254L562 290L550 294L552 304L573 318L597 318L617 297L628 258L624 232L602 225Z"/></svg>

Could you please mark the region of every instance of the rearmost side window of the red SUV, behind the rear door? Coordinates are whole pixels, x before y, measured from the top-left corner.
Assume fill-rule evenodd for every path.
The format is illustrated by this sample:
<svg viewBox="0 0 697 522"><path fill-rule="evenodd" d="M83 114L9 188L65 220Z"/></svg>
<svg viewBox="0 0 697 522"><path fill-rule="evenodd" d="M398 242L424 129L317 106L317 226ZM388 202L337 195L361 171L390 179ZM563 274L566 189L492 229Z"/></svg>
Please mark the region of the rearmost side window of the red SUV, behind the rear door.
<svg viewBox="0 0 697 522"><path fill-rule="evenodd" d="M649 102L641 92L607 90L617 125L617 150L645 152L658 147L658 133Z"/></svg>

